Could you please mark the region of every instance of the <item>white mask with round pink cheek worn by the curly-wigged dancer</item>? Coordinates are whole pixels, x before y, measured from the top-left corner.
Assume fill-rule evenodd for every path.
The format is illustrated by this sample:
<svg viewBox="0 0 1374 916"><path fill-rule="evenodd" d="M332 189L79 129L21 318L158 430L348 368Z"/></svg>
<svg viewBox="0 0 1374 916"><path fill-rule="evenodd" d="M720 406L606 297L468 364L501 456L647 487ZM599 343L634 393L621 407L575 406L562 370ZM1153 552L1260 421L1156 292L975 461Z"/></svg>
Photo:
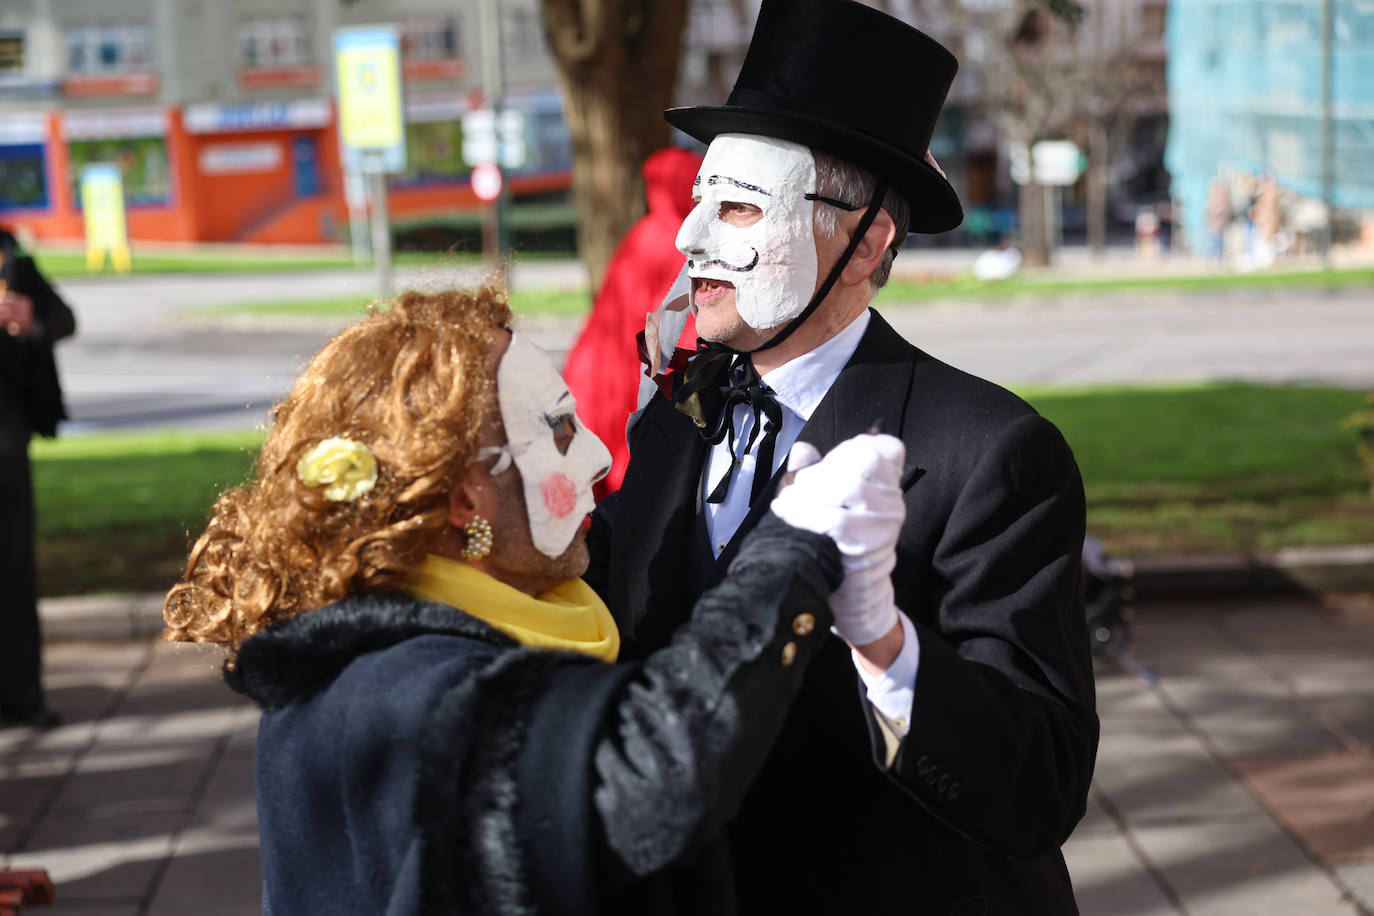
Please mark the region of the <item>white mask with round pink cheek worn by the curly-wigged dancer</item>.
<svg viewBox="0 0 1374 916"><path fill-rule="evenodd" d="M596 504L592 483L610 470L610 452L578 422L577 402L548 354L519 334L511 334L496 368L496 400L506 426L502 450L515 460L525 483L530 538L540 553L562 556ZM566 422L573 424L573 439L567 452L559 452L554 434Z"/></svg>

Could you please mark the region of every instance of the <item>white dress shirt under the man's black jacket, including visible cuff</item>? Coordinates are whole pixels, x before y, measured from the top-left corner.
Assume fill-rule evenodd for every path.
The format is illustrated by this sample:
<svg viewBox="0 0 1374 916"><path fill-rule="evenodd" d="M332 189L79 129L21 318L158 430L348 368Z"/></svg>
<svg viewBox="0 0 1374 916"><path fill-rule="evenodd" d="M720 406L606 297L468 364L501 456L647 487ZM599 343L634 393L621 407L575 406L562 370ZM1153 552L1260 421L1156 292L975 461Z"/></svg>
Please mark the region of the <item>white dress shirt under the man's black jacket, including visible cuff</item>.
<svg viewBox="0 0 1374 916"><path fill-rule="evenodd" d="M774 446L772 467L768 477L778 472L787 457L787 452L797 442L801 427L807 424L816 405L826 397L826 393L840 378L840 371L849 363L849 357L859 347L859 341L868 330L870 312L864 309L859 317L849 323L840 334L830 338L815 350L804 353L761 378L768 386L778 404L782 407L782 430L778 431ZM736 404L731 415L735 427L735 448L742 448L749 441L754 416L747 404ZM754 441L749 453L741 457L735 478L730 482L730 492L721 503L706 503L706 533L710 536L710 548L720 556L725 545L739 530L739 525L749 515L749 496L753 489L756 459L758 442L763 434ZM701 499L716 489L720 479L730 472L734 464L734 455L730 453L730 437L710 448L706 456L706 481L701 492ZM915 628L907 615L899 608L897 618L905 636L901 652L892 666L882 674L870 674L855 656L855 667L863 678L868 692L868 702L883 714L888 724L899 737L905 737L910 728L912 691L916 684L916 666L921 659L921 647L916 641Z"/></svg>

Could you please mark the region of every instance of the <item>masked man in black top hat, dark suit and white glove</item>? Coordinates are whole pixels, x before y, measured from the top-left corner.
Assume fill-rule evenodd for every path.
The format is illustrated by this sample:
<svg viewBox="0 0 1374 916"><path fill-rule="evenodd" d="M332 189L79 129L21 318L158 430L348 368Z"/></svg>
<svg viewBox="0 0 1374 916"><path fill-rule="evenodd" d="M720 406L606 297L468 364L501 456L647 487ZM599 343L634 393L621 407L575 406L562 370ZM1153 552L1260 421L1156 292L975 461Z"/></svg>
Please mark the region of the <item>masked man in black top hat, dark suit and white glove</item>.
<svg viewBox="0 0 1374 916"><path fill-rule="evenodd" d="M870 7L764 0L728 102L666 113L709 143L677 236L703 342L688 363L650 335L658 391L594 519L622 656L671 639L802 452L860 435L856 466L903 461L899 493L837 482L829 514L785 515L833 534L849 578L725 825L742 913L1077 912L1059 847L1098 740L1081 478L1029 405L868 308L908 228L962 220L927 158L955 69ZM901 509L885 569L866 522ZM682 857L677 912L708 854Z"/></svg>

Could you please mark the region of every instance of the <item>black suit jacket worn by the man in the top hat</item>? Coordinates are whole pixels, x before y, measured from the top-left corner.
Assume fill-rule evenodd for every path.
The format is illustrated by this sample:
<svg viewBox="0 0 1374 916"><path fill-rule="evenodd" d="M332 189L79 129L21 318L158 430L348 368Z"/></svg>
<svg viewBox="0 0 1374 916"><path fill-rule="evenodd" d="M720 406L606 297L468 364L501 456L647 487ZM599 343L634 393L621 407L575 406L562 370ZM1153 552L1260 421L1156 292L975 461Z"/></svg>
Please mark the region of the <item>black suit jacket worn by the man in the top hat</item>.
<svg viewBox="0 0 1374 916"><path fill-rule="evenodd" d="M921 641L910 733L889 765L831 637L730 825L739 912L1074 913L1059 846L1083 816L1098 739L1077 466L1029 405L877 313L801 438L824 452L875 417L907 446L893 584ZM588 580L617 615L622 658L668 639L767 508L694 575L705 453L655 397L618 499L598 508Z"/></svg>

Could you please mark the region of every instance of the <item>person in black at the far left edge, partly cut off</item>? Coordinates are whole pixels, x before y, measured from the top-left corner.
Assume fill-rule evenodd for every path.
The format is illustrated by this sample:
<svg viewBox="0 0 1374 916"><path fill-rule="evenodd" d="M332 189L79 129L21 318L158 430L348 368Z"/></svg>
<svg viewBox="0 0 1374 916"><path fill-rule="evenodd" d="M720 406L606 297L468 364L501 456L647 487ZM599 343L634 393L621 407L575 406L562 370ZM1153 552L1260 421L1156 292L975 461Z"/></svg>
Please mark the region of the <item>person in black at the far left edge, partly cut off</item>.
<svg viewBox="0 0 1374 916"><path fill-rule="evenodd" d="M76 317L10 232L0 228L0 728L52 728L43 696L29 439L66 417L52 345Z"/></svg>

